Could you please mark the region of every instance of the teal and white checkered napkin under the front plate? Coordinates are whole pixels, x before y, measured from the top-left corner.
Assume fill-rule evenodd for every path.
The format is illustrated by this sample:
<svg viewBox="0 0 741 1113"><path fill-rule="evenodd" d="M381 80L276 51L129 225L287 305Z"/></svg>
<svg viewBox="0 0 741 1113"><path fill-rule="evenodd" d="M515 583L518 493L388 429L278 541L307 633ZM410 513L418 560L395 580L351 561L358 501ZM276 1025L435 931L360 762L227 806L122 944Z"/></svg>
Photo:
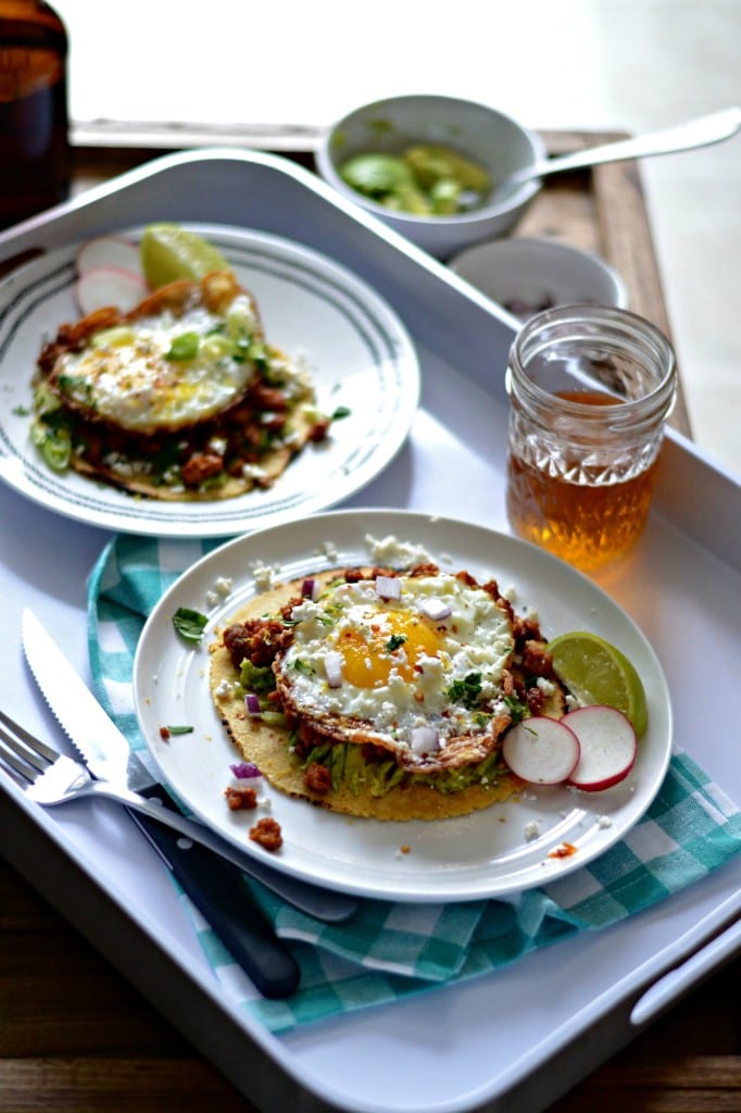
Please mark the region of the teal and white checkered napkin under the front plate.
<svg viewBox="0 0 741 1113"><path fill-rule="evenodd" d="M121 536L88 584L88 640L98 695L155 775L131 691L136 646L162 592L218 541ZM300 965L297 993L263 999L185 894L204 952L229 998L273 1032L491 973L560 939L615 924L741 851L741 811L684 754L656 799L615 846L561 880L511 899L407 904L363 899L345 924L313 919L245 878Z"/></svg>

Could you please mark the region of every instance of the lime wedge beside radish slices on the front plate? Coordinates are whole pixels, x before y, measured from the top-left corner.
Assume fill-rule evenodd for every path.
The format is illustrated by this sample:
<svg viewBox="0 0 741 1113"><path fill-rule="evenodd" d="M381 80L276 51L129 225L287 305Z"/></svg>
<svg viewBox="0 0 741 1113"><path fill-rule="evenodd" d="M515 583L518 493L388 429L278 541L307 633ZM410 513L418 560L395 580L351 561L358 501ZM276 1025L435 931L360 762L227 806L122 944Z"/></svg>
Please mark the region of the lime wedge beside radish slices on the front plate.
<svg viewBox="0 0 741 1113"><path fill-rule="evenodd" d="M640 738L649 721L645 690L634 666L595 633L577 630L549 642L559 679L584 705L614 707Z"/></svg>

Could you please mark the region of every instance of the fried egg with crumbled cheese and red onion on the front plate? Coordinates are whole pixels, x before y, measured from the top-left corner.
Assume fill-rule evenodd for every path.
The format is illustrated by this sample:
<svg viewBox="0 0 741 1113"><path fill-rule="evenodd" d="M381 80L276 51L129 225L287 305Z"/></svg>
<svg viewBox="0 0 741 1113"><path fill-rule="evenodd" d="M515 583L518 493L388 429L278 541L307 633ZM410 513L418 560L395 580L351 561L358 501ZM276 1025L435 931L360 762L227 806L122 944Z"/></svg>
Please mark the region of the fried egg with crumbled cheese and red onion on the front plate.
<svg viewBox="0 0 741 1113"><path fill-rule="evenodd" d="M514 640L484 588L441 571L335 582L289 621L278 687L325 736L373 741L414 764L453 740L500 733Z"/></svg>

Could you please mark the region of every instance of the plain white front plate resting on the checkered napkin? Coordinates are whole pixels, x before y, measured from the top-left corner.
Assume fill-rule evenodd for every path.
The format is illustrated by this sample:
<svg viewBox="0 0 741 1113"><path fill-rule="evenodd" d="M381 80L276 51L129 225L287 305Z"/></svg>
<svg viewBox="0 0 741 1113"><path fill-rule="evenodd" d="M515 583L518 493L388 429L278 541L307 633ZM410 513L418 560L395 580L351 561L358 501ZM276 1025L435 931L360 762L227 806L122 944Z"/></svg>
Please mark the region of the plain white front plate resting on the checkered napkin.
<svg viewBox="0 0 741 1113"><path fill-rule="evenodd" d="M391 534L424 546L451 571L494 575L502 591L515 587L515 608L536 609L549 638L592 630L622 649L643 678L649 702L638 760L625 781L604 792L539 788L521 801L435 823L350 819L268 789L285 840L270 863L330 888L397 900L491 897L580 868L621 839L659 790L671 754L666 682L641 631L591 580L533 545L464 522L406 511L336 511L238 538L185 572L150 614L134 667L139 723L162 778L219 834L248 853L265 853L247 838L254 814L230 812L224 800L235 751L209 695L210 632L256 593L255 562L266 561L279 579L293 579L367 562L367 535ZM318 555L327 544L336 554ZM219 577L233 579L233 593L208 612L201 643L188 648L171 617L179 607L206 612L206 595ZM159 728L170 723L195 730L164 741ZM537 836L528 839L535 828ZM564 841L576 853L549 857ZM408 853L401 853L402 846Z"/></svg>

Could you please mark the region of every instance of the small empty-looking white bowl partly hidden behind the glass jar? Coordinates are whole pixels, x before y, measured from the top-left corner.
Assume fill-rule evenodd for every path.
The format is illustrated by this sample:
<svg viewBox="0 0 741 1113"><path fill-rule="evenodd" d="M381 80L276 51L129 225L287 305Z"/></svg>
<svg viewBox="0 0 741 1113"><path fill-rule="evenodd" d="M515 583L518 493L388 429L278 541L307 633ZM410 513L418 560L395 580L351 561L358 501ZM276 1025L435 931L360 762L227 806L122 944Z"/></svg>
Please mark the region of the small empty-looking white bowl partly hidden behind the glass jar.
<svg viewBox="0 0 741 1113"><path fill-rule="evenodd" d="M611 266L552 239L515 236L478 244L455 255L449 266L521 321L555 305L628 308L628 289Z"/></svg>

